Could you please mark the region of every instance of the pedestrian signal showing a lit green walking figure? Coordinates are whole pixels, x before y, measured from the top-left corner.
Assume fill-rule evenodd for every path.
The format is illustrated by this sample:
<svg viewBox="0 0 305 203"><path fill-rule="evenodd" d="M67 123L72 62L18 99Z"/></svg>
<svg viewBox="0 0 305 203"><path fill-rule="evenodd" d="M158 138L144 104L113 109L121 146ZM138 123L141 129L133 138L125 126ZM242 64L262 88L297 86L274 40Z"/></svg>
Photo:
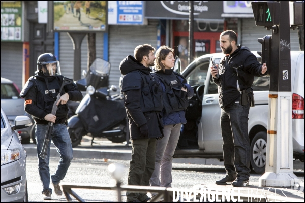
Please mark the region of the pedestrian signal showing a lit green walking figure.
<svg viewBox="0 0 305 203"><path fill-rule="evenodd" d="M251 2L256 26L273 26L280 24L279 2Z"/></svg>

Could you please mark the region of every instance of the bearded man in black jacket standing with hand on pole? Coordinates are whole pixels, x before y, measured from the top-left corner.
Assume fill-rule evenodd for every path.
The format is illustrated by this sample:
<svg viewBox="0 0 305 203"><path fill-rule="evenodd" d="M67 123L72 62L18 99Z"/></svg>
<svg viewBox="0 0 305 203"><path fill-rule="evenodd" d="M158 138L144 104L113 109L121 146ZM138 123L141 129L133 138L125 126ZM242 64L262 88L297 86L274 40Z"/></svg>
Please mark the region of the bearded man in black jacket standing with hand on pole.
<svg viewBox="0 0 305 203"><path fill-rule="evenodd" d="M241 187L249 185L250 176L248 115L250 103L254 105L251 85L254 76L265 75L267 66L266 63L261 65L247 47L236 45L236 42L237 35L234 31L221 33L220 47L226 55L220 60L219 71L214 66L210 69L213 80L218 85L226 168L226 177L216 181L216 184L232 182L233 186Z"/></svg>

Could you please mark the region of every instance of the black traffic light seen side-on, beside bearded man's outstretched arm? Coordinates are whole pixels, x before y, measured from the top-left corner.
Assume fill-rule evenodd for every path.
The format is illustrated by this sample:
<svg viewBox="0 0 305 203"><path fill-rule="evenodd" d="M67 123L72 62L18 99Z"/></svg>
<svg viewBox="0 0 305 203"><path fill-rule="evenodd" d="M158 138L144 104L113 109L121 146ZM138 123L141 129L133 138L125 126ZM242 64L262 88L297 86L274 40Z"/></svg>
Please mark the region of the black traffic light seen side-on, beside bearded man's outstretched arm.
<svg viewBox="0 0 305 203"><path fill-rule="evenodd" d="M262 57L262 64L266 63L268 69L267 73L269 74L271 66L271 35L266 35L263 38L258 38L257 41L262 44L262 51L258 51L258 55Z"/></svg>

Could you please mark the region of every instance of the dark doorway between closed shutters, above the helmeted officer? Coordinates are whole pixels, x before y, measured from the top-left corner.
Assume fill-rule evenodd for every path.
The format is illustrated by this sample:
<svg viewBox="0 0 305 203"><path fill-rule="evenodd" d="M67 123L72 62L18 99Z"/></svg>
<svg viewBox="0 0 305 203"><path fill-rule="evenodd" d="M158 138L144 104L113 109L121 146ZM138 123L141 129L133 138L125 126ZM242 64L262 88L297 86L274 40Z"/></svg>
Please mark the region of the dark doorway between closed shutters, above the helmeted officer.
<svg viewBox="0 0 305 203"><path fill-rule="evenodd" d="M30 33L30 75L37 70L37 58L43 53L54 54L54 34L46 31L46 24L32 22Z"/></svg>

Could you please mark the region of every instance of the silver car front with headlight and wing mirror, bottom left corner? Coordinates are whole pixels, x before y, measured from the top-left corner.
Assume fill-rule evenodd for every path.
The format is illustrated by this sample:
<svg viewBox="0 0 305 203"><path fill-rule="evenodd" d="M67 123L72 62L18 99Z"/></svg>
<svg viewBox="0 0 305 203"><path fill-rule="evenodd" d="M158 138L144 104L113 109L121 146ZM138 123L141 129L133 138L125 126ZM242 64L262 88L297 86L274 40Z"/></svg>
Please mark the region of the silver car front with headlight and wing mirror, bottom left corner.
<svg viewBox="0 0 305 203"><path fill-rule="evenodd" d="M27 116L17 116L13 125L1 107L1 202L28 202L26 152L17 132L32 125Z"/></svg>

